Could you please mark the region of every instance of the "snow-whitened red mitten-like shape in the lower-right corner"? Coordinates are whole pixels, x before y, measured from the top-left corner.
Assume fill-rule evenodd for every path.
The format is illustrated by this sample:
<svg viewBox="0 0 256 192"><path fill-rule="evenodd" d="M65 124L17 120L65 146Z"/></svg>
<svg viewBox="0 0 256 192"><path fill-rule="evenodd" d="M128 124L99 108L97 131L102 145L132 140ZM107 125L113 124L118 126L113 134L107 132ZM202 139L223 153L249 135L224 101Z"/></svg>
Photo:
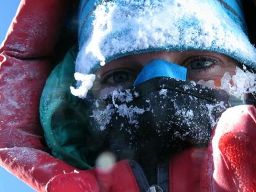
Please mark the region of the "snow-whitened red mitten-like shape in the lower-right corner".
<svg viewBox="0 0 256 192"><path fill-rule="evenodd" d="M236 106L221 116L203 164L202 191L255 191L256 109Z"/></svg>

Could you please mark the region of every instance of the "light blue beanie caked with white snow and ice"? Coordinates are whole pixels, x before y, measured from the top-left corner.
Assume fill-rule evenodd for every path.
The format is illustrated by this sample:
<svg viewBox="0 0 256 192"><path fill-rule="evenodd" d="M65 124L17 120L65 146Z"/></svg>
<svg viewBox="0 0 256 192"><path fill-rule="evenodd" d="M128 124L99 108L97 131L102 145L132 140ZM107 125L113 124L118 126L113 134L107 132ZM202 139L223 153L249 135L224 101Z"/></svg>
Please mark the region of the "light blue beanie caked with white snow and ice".
<svg viewBox="0 0 256 192"><path fill-rule="evenodd" d="M85 98L100 65L129 54L202 50L256 68L241 0L82 0L77 88Z"/></svg>

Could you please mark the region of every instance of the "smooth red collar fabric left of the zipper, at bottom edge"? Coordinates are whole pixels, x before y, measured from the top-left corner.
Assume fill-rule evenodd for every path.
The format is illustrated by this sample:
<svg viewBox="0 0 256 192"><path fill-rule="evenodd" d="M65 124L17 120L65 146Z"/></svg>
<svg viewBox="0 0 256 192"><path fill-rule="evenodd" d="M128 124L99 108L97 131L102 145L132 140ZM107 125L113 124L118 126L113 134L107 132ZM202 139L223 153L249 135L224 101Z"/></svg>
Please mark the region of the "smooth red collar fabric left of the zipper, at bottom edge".
<svg viewBox="0 0 256 192"><path fill-rule="evenodd" d="M112 169L95 168L58 175L48 183L48 192L139 192L128 161L117 162Z"/></svg>

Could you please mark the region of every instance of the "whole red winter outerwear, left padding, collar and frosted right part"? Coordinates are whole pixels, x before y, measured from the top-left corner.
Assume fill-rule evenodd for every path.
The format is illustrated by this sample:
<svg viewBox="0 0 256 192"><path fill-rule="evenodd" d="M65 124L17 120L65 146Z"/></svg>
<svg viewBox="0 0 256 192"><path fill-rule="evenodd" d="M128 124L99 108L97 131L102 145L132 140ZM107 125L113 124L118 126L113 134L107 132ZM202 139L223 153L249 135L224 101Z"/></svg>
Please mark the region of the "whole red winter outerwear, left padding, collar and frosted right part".
<svg viewBox="0 0 256 192"><path fill-rule="evenodd" d="M77 170L41 143L38 107L68 0L23 0L0 48L0 165L38 191L139 191L128 161ZM169 162L170 191L256 191L256 109L223 114L206 149ZM75 171L77 170L77 171ZM78 173L77 173L78 172ZM47 189L47 190L46 190Z"/></svg>

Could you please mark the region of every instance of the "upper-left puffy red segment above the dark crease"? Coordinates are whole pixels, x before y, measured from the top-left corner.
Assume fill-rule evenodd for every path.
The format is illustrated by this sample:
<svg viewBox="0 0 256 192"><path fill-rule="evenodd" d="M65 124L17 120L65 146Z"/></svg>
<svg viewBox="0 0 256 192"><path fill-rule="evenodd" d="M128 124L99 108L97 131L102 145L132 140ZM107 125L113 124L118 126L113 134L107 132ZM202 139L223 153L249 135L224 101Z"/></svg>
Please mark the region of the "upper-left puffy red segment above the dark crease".
<svg viewBox="0 0 256 192"><path fill-rule="evenodd" d="M22 0L0 52L19 59L54 54L63 16L71 0Z"/></svg>

